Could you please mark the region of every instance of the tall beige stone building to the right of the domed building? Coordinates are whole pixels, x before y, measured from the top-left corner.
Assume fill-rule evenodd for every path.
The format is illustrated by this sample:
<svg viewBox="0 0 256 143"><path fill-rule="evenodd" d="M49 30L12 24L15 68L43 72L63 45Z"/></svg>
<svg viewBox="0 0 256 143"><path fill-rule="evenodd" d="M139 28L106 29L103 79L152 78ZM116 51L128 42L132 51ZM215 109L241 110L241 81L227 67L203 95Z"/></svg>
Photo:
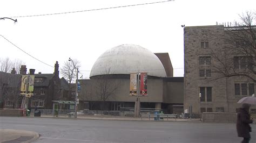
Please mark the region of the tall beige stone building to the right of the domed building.
<svg viewBox="0 0 256 143"><path fill-rule="evenodd" d="M237 38L234 35L239 32L242 32L239 27L223 25L184 28L185 111L189 112L191 106L193 113L236 112L240 107L238 100L254 94L255 83L250 78L224 76L248 70L248 56L232 50L239 41L231 39ZM255 57L252 62L255 63ZM251 68L255 72L255 67ZM251 76L255 79L255 73Z"/></svg>

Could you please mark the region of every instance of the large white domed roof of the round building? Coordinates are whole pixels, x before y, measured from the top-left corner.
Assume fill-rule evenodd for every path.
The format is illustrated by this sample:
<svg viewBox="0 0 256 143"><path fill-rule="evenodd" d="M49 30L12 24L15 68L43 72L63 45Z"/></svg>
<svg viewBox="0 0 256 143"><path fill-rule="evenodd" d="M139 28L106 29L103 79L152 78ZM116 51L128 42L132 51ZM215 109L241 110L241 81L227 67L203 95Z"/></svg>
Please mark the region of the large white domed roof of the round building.
<svg viewBox="0 0 256 143"><path fill-rule="evenodd" d="M138 71L148 73L149 76L166 77L164 66L154 53L129 44L113 47L100 55L91 69L90 77Z"/></svg>

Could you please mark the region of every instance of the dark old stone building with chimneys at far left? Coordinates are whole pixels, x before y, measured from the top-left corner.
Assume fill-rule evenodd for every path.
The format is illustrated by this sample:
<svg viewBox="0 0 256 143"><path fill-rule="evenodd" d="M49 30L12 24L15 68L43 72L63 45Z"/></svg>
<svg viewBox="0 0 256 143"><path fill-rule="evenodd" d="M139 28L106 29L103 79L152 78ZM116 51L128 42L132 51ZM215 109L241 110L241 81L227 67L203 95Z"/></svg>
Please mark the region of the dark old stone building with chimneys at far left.
<svg viewBox="0 0 256 143"><path fill-rule="evenodd" d="M35 74L35 69L30 69L29 74L35 74L34 95L27 100L20 95L22 75L27 74L25 65L21 66L20 74L13 69L12 74L0 71L0 98L1 108L24 108L28 103L30 109L52 109L52 101L71 100L68 82L59 78L59 65L56 61L53 74Z"/></svg>

